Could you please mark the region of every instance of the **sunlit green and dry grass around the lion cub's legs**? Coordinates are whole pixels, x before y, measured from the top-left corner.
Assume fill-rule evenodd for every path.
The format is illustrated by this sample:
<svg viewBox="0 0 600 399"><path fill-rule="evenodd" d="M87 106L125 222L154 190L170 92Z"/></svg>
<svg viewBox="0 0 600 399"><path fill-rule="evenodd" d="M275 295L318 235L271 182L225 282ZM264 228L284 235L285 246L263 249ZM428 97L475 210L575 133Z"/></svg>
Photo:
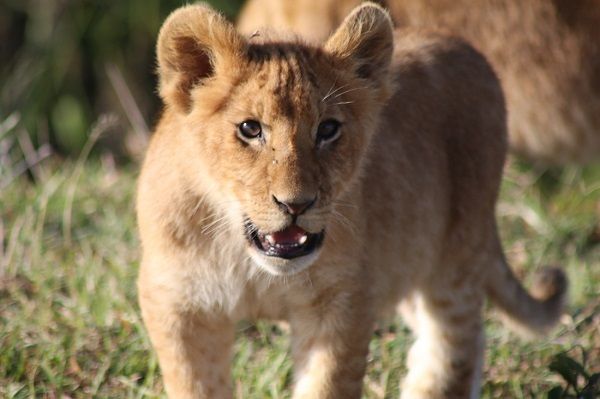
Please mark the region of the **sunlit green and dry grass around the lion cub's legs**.
<svg viewBox="0 0 600 399"><path fill-rule="evenodd" d="M162 396L136 303L136 168L52 160L37 184L21 177L0 191L0 397ZM559 353L600 371L600 165L537 173L513 161L498 213L517 272L527 281L539 265L563 265L571 303L533 342L486 313L483 396L542 398L566 387L549 368ZM289 397L287 334L259 323L238 335L237 396ZM398 321L373 338L365 397L397 397L410 341Z"/></svg>

